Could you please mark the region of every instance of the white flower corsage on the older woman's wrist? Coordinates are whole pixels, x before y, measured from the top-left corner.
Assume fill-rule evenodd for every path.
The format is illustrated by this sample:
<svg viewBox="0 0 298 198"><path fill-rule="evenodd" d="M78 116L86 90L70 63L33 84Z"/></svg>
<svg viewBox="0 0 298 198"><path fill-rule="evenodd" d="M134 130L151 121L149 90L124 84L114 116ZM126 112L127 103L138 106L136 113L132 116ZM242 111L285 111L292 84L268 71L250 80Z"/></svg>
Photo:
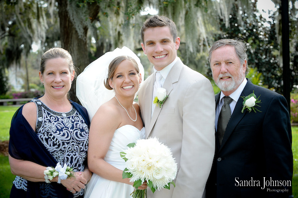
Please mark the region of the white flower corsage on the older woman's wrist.
<svg viewBox="0 0 298 198"><path fill-rule="evenodd" d="M65 180L65 179L67 179L67 177L73 176L71 171L72 171L72 168L70 168L69 166L66 166L66 164L64 164L64 166L62 167L60 165L60 162L58 162L55 168L49 166L44 171L45 182L46 183L51 183L50 181L54 177L58 176L58 183L60 184L61 180Z"/></svg>

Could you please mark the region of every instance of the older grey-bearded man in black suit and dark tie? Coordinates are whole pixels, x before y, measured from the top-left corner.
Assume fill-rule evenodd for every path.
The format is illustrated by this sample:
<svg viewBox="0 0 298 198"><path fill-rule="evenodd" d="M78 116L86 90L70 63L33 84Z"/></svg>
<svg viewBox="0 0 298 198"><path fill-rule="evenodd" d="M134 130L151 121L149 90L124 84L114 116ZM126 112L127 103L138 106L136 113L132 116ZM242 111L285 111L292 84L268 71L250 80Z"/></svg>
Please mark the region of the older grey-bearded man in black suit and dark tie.
<svg viewBox="0 0 298 198"><path fill-rule="evenodd" d="M216 41L209 62L221 92L215 97L216 154L206 198L290 198L293 155L286 99L245 78L246 44L240 40ZM250 109L243 109L250 94L257 100L245 100Z"/></svg>

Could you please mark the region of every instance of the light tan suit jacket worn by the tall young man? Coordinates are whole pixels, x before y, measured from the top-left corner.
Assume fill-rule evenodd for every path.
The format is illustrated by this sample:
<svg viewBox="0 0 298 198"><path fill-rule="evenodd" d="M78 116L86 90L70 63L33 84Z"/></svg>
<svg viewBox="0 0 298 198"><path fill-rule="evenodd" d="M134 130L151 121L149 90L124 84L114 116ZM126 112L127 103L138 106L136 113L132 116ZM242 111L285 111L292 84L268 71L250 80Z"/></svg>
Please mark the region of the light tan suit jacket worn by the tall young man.
<svg viewBox="0 0 298 198"><path fill-rule="evenodd" d="M146 138L157 137L171 148L178 163L176 188L163 189L148 198L200 198L204 192L215 152L215 101L210 81L179 59L163 88L169 97L155 107L152 118L154 76L139 91L139 105Z"/></svg>

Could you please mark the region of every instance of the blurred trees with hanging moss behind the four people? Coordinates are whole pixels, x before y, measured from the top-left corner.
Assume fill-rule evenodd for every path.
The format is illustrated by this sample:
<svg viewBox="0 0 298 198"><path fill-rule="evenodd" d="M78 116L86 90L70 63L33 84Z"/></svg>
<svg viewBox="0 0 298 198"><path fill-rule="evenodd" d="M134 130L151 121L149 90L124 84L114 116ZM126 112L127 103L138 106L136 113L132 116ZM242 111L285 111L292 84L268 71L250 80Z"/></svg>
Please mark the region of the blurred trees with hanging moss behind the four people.
<svg viewBox="0 0 298 198"><path fill-rule="evenodd" d="M140 29L150 14L173 19L181 38L179 57L210 79L209 47L218 39L242 38L250 78L282 93L281 1L272 1L276 11L268 20L257 0L1 0L0 95L42 90L40 56L53 47L67 49L80 73L106 51L126 46L140 57L146 78L152 67L141 50ZM298 85L297 9L297 0L289 0L293 92ZM75 82L70 98L77 101Z"/></svg>

